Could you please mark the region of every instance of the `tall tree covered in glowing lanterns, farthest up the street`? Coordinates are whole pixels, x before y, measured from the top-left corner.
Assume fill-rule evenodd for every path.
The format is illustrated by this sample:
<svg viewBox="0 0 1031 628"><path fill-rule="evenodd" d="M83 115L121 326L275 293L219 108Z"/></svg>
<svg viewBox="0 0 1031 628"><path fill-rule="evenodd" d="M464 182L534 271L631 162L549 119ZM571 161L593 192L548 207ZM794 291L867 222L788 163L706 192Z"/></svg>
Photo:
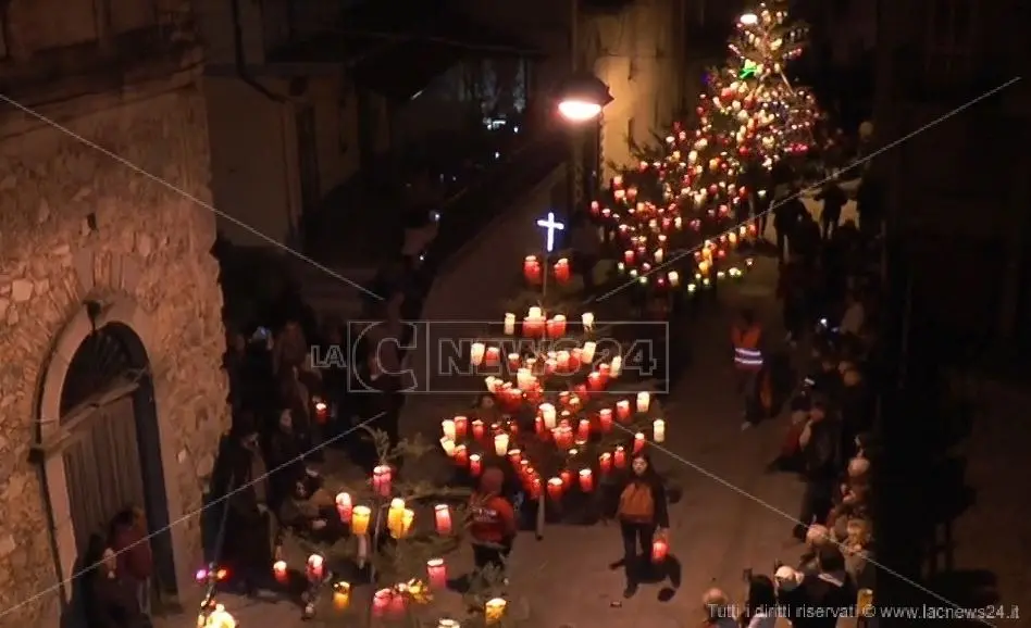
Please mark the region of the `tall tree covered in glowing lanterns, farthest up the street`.
<svg viewBox="0 0 1031 628"><path fill-rule="evenodd" d="M808 154L820 113L786 73L807 35L786 5L774 0L741 16L728 62L707 76L691 130L674 125L660 156L642 154L592 204L625 249L620 271L642 287L693 292L742 276L750 259L731 253L756 237L750 204L771 193L778 164Z"/></svg>

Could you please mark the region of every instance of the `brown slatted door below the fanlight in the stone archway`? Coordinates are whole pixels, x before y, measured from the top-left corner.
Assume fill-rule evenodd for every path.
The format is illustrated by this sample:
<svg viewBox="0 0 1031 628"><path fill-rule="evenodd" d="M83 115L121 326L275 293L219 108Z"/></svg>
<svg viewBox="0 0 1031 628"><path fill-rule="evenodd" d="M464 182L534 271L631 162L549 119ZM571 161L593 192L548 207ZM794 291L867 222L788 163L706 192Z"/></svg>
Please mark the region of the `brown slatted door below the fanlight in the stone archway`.
<svg viewBox="0 0 1031 628"><path fill-rule="evenodd" d="M107 537L121 510L147 503L133 395L105 400L76 431L63 455L75 541L83 552L91 535Z"/></svg>

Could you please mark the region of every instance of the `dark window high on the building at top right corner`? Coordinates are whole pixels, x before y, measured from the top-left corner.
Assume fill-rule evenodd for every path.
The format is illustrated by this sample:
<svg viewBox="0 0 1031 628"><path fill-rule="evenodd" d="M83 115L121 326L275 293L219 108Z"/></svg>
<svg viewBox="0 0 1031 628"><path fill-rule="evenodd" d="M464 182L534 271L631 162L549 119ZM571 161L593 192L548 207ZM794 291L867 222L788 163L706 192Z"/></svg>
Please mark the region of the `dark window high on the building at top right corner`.
<svg viewBox="0 0 1031 628"><path fill-rule="evenodd" d="M933 78L960 78L973 71L972 0L930 0L926 71Z"/></svg>

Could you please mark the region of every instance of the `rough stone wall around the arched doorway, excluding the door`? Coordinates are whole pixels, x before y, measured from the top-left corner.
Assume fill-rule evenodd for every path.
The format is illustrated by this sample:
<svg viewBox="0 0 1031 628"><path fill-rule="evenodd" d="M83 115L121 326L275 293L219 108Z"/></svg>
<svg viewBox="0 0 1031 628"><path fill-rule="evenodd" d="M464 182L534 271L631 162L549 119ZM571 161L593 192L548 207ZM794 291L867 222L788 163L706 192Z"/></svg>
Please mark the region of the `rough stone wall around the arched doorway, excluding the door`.
<svg viewBox="0 0 1031 628"><path fill-rule="evenodd" d="M11 608L0 615L4 626L58 625L58 585L69 573L53 548L70 527L60 516L69 506L52 504L51 531L46 507L55 491L42 486L29 448L48 364L85 299L128 304L133 319L148 327L137 332L151 363L162 450L171 452L163 466L173 523L201 505L228 425L222 293L209 254L215 221L187 198L210 199L204 103L192 85L125 93L133 96L117 106L62 118L71 133L0 121L0 610ZM179 573L196 567L199 529L188 517L173 531Z"/></svg>

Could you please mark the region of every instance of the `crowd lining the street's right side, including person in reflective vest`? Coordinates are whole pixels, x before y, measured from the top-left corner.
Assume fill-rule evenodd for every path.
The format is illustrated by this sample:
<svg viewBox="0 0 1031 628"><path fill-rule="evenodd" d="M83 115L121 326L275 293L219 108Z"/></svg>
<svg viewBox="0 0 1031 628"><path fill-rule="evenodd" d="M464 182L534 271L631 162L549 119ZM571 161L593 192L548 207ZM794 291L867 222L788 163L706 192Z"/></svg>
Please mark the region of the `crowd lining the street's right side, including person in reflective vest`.
<svg viewBox="0 0 1031 628"><path fill-rule="evenodd" d="M770 575L748 575L747 602L733 606L717 589L703 603L711 626L772 627L786 616L796 628L831 628L843 610L869 603L873 591L873 526L870 518L871 436L878 273L873 244L881 230L877 197L859 186L859 225L842 223L847 201L835 177L816 200L815 218L796 190L778 190L772 211L780 261L778 297L788 351L808 349L809 366L788 395L791 424L771 472L797 473L805 481L792 535L805 543L797 565ZM821 224L822 223L822 228ZM744 312L732 328L745 427L777 411L769 388L775 341ZM859 595L859 592L864 595ZM865 600L865 602L864 602ZM837 610L837 611L835 611ZM738 612L740 611L740 612Z"/></svg>

